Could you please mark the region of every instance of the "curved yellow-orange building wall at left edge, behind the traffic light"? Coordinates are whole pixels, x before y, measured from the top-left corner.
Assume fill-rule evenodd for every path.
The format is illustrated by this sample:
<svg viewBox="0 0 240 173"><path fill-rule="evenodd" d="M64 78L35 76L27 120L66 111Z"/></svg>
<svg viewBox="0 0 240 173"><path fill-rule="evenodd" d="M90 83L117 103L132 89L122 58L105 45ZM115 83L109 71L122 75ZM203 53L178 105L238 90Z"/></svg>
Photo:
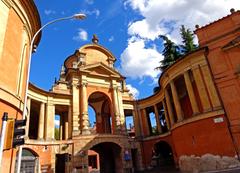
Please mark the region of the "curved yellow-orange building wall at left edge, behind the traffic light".
<svg viewBox="0 0 240 173"><path fill-rule="evenodd" d="M9 118L22 118L29 44L32 34L40 28L40 18L33 1L0 1L0 7L1 128L4 112ZM0 172L14 172L16 152L17 149L4 150Z"/></svg>

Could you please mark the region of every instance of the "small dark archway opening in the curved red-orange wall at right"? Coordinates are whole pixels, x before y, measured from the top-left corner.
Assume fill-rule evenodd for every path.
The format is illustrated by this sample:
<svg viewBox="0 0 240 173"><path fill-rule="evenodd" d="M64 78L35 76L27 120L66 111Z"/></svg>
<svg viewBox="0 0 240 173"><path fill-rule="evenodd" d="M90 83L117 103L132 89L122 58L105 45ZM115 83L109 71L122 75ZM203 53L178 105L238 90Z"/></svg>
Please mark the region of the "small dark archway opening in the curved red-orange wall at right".
<svg viewBox="0 0 240 173"><path fill-rule="evenodd" d="M154 145L153 160L156 161L157 167L174 167L174 157L171 146L160 141Z"/></svg>

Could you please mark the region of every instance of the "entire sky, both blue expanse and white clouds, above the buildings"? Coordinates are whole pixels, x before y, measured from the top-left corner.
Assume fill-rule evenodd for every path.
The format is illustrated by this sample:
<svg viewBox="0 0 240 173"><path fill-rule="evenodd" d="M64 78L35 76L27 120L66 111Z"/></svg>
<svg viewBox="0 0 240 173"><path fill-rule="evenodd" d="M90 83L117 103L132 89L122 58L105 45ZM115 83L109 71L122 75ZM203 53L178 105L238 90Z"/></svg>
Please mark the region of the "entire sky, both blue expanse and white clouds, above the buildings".
<svg viewBox="0 0 240 173"><path fill-rule="evenodd" d="M127 77L138 98L152 94L160 72L154 70L163 58L159 34L180 43L179 27L208 24L240 9L239 0L35 0L42 24L75 13L83 21L55 23L43 31L33 55L30 80L49 90L64 60L97 34L100 44L117 58L115 67Z"/></svg>

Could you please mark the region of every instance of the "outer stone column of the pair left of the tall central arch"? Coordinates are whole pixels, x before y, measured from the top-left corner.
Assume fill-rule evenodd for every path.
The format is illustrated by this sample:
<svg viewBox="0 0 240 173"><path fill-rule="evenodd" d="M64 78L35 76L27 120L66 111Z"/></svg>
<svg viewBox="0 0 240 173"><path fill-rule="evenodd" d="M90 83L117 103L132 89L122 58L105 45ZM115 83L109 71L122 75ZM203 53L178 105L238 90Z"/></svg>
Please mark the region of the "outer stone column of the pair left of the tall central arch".
<svg viewBox="0 0 240 173"><path fill-rule="evenodd" d="M79 82L78 79L72 79L72 107L69 110L71 113L72 122L72 136L78 136L80 134L80 98L79 98Z"/></svg>

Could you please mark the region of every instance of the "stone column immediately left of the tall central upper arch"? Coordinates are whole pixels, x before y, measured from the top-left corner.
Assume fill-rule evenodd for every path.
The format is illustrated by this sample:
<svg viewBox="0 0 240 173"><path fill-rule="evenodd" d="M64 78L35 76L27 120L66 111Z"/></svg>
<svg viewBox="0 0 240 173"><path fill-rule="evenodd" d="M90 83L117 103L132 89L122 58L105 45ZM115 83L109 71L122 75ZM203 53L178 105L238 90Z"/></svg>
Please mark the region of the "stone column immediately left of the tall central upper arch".
<svg viewBox="0 0 240 173"><path fill-rule="evenodd" d="M87 83L82 82L81 85L81 101L82 101L82 134L90 134L89 119L88 119L88 98L87 98Z"/></svg>

